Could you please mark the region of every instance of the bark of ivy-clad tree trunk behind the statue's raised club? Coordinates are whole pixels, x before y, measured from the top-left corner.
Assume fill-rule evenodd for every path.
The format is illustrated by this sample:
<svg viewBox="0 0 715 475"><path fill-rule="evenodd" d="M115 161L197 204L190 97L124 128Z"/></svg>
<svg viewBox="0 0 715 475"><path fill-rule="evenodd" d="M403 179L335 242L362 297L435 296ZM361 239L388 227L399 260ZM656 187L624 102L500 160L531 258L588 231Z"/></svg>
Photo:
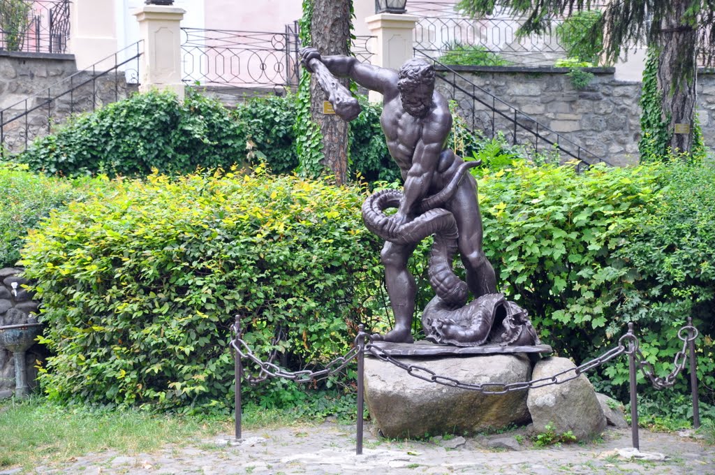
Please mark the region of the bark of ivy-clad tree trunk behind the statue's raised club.
<svg viewBox="0 0 715 475"><path fill-rule="evenodd" d="M310 21L312 46L322 55L347 54L350 41L350 1L351 0L314 0L313 14ZM347 79L340 83L348 87ZM323 114L323 102L327 96L317 84L315 77L310 79L310 113L313 121L320 125L323 137L323 165L335 175L335 181L342 185L347 181L347 122L335 114Z"/></svg>

